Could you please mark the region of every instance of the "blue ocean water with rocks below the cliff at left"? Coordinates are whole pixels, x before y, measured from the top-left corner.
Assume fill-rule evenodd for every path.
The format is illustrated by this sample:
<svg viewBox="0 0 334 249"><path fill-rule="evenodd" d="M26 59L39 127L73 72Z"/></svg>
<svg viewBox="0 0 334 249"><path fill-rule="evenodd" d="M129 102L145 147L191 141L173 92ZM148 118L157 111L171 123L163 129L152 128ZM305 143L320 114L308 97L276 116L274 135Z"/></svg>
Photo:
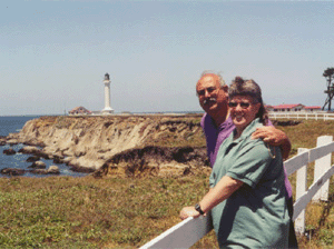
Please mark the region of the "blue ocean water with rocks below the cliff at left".
<svg viewBox="0 0 334 249"><path fill-rule="evenodd" d="M8 136L9 133L13 132L19 132L24 123L28 120L39 118L39 116L9 116L9 117L0 117L0 136ZM23 145L16 145L12 147L14 151L19 151ZM23 155L23 153L16 153L12 156L7 156L3 153L3 150L9 149L10 146L0 146L0 170L3 168L18 168L18 169L26 169L29 170L28 167L31 165L31 162L27 162L27 158L29 158L31 155ZM47 165L47 169L51 166L55 165L52 160L47 160L47 159L41 159ZM56 176L72 176L72 177L84 177L87 176L87 173L81 173L81 172L73 172L69 169L68 166L65 163L61 165L56 165L58 166L60 170L60 175ZM26 172L23 175L24 177L49 177L49 176L55 176L55 175L33 175L30 172ZM0 177L6 177L4 175L0 175Z"/></svg>

